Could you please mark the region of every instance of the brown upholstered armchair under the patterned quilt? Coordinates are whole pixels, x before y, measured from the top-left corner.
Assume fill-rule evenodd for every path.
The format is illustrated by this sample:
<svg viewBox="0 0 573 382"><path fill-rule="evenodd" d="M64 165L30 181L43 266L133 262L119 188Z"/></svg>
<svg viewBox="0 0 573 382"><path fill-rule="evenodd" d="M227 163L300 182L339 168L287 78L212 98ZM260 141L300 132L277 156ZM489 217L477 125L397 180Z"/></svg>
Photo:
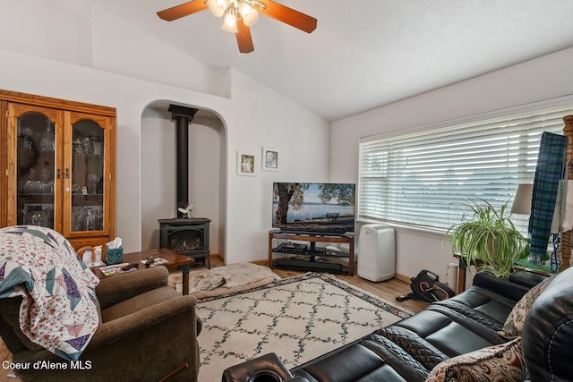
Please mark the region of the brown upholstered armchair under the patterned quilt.
<svg viewBox="0 0 573 382"><path fill-rule="evenodd" d="M13 363L20 366L14 369L17 377L197 380L201 331L197 300L167 286L167 275L165 267L151 267L102 279L96 287L100 322L78 361L65 361L22 334L21 297L0 299L0 335L13 353Z"/></svg>

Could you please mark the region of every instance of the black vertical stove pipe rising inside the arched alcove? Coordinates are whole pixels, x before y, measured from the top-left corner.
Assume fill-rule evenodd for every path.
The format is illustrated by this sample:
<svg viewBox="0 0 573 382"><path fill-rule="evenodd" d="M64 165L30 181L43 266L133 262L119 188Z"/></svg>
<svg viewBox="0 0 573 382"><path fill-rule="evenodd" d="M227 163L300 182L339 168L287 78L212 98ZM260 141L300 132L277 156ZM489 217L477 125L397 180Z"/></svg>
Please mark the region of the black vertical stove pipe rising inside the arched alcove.
<svg viewBox="0 0 573 382"><path fill-rule="evenodd" d="M189 123L197 109L169 105L171 119L175 120L175 182L177 217L186 217L178 208L189 205Z"/></svg>

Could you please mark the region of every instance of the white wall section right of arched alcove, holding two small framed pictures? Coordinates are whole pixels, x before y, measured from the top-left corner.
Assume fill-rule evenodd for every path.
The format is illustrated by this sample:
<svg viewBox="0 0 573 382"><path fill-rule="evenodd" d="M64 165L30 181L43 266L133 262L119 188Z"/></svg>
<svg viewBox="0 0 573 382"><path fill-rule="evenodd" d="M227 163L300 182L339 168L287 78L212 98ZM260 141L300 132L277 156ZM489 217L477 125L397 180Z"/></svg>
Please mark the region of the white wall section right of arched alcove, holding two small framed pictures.
<svg viewBox="0 0 573 382"><path fill-rule="evenodd" d="M267 259L272 183L329 179L329 123L235 70L232 89L235 118L244 124L227 126L227 200L234 200L227 253L236 261ZM261 170L263 146L280 151L280 171ZM256 177L236 175L236 150L257 156Z"/></svg>

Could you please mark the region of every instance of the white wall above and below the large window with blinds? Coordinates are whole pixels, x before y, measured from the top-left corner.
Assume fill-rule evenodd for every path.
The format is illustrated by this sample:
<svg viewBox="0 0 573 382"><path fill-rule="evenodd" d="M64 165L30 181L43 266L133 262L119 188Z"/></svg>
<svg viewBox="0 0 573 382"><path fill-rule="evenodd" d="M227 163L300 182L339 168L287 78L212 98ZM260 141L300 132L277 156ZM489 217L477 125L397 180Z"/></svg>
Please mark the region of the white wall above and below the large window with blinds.
<svg viewBox="0 0 573 382"><path fill-rule="evenodd" d="M358 144L362 137L399 135L408 129L483 119L483 113L503 115L526 110L533 107L527 106L529 103L573 94L572 67L573 48L569 48L332 123L331 179L358 182ZM550 105L552 101L541 103ZM509 107L512 112L500 111ZM442 240L440 232L397 227L397 272L415 276L426 268L445 280L452 258L449 242L443 247Z"/></svg>

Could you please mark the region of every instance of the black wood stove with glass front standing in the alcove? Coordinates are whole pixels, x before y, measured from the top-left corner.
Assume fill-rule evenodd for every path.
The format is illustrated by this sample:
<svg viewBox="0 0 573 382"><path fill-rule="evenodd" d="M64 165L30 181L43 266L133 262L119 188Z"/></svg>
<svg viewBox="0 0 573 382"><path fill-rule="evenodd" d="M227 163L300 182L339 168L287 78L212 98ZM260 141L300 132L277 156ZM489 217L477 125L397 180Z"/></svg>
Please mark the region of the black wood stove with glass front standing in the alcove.
<svg viewBox="0 0 573 382"><path fill-rule="evenodd" d="M175 250L193 259L201 259L211 267L209 251L210 219L205 217L181 217L158 219L159 247Z"/></svg>

